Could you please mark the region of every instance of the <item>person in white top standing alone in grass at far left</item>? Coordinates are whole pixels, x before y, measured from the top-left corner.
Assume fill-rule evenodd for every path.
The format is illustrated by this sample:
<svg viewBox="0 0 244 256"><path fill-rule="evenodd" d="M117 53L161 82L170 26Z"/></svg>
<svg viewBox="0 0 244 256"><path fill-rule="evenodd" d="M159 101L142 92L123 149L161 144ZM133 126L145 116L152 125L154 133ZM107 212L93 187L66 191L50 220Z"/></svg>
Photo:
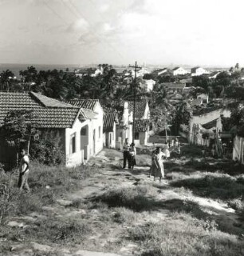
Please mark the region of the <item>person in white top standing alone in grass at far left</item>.
<svg viewBox="0 0 244 256"><path fill-rule="evenodd" d="M26 154L26 150L21 150L22 159L19 163L19 178L18 178L18 188L20 191L24 188L27 192L30 192L30 187L28 185L28 176L30 173L30 159Z"/></svg>

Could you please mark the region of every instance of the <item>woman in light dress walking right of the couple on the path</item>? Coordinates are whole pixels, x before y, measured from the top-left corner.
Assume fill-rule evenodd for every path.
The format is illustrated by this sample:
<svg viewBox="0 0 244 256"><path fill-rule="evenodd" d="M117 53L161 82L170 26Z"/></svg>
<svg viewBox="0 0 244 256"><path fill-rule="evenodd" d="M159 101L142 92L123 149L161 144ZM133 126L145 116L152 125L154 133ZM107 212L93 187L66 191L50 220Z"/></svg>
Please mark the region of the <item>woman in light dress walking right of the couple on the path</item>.
<svg viewBox="0 0 244 256"><path fill-rule="evenodd" d="M159 147L157 147L152 154L151 174L154 177L154 180L156 177L159 177L160 182L161 179L164 178L163 156L165 156L165 154Z"/></svg>

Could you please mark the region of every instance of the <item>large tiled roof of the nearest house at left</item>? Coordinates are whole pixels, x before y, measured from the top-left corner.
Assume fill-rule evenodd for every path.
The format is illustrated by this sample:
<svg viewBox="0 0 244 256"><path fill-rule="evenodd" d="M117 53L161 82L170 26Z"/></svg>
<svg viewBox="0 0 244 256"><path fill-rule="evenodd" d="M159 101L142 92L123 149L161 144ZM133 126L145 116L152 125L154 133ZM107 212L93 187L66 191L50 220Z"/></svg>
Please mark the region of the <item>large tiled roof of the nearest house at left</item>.
<svg viewBox="0 0 244 256"><path fill-rule="evenodd" d="M38 128L71 128L80 112L75 106L33 92L0 92L0 126L11 110L33 110Z"/></svg>

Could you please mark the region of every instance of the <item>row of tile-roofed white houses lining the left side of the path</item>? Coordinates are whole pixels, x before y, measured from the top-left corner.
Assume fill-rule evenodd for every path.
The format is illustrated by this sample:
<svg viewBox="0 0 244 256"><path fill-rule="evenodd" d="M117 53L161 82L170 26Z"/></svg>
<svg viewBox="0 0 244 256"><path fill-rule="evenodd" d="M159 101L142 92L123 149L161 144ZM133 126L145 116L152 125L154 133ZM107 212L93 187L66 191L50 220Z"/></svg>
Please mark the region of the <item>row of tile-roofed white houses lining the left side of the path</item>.
<svg viewBox="0 0 244 256"><path fill-rule="evenodd" d="M61 138L66 166L77 166L95 156L104 146L121 149L125 138L132 142L133 102L103 107L98 100L60 102L34 92L0 92L0 162L11 162L16 152L2 134L6 114L11 110L33 110L33 122L44 134ZM148 142L148 102L136 102L136 146Z"/></svg>

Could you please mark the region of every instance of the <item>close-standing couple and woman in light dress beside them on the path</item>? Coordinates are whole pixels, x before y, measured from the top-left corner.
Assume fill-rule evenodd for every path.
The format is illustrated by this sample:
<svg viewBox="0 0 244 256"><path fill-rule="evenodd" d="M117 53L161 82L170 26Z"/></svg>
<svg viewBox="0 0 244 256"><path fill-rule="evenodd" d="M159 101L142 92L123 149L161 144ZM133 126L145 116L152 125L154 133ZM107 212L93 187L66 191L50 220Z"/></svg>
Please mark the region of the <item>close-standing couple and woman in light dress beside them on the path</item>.
<svg viewBox="0 0 244 256"><path fill-rule="evenodd" d="M125 139L124 146L124 163L123 169L126 167L128 162L128 169L134 168L136 165L136 147L135 144L130 144L128 138ZM152 175L155 178L159 178L159 181L164 178L164 168L163 168L163 158L168 158L170 156L168 143L165 144L163 150L157 146L155 150L152 150L152 165L149 171L149 177Z"/></svg>

